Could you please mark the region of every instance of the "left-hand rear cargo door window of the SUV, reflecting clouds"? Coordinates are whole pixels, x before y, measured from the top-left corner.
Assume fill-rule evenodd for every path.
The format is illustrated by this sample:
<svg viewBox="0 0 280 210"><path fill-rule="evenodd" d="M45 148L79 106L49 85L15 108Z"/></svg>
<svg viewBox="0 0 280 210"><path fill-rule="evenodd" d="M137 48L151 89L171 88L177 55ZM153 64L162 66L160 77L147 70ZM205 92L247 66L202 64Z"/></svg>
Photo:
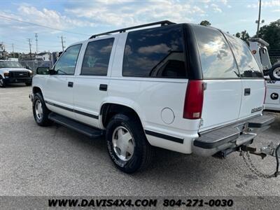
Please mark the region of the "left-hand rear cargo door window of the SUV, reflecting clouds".
<svg viewBox="0 0 280 210"><path fill-rule="evenodd" d="M204 79L239 78L232 51L223 34L207 27L194 26Z"/></svg>

